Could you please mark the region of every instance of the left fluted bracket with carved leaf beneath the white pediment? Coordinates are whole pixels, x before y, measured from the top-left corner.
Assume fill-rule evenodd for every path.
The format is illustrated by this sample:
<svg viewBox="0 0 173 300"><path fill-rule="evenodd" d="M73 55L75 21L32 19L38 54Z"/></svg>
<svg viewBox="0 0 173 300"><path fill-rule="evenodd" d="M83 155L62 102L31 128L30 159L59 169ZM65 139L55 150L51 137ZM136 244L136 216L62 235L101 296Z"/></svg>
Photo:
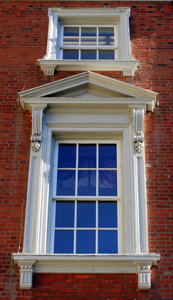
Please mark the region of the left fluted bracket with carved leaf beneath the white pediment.
<svg viewBox="0 0 173 300"><path fill-rule="evenodd" d="M31 140L31 149L34 152L37 152L41 148L41 131L42 131L42 109L33 109L32 110L32 135Z"/></svg>

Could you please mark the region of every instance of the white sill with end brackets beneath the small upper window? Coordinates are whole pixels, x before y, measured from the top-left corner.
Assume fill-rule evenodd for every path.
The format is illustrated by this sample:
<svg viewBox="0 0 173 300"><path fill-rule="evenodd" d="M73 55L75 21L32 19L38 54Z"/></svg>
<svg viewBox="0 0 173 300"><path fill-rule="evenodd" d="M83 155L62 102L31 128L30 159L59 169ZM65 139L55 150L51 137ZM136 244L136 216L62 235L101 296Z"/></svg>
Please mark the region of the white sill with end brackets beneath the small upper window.
<svg viewBox="0 0 173 300"><path fill-rule="evenodd" d="M44 75L54 75L58 71L122 71L125 76L132 76L139 65L138 60L66 60L38 59L37 64Z"/></svg>

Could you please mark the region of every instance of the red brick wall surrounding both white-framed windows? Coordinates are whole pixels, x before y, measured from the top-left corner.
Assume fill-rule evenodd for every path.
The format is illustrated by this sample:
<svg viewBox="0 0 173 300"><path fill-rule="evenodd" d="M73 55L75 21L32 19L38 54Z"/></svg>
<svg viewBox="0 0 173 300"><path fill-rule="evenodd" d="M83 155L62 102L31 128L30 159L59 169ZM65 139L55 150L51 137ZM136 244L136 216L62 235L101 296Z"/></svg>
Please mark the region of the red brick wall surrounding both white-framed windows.
<svg viewBox="0 0 173 300"><path fill-rule="evenodd" d="M11 252L22 250L30 114L17 103L17 92L79 72L44 76L36 64L46 52L47 8L104 7L104 1L0 1L0 299L108 300L172 299L173 268L173 11L164 1L109 2L131 8L131 51L140 66L133 77L99 72L159 92L160 105L145 115L145 154L149 251L161 261L152 267L151 290L137 289L136 274L34 274L33 289L19 290L19 271ZM108 2L106 2L108 3Z"/></svg>

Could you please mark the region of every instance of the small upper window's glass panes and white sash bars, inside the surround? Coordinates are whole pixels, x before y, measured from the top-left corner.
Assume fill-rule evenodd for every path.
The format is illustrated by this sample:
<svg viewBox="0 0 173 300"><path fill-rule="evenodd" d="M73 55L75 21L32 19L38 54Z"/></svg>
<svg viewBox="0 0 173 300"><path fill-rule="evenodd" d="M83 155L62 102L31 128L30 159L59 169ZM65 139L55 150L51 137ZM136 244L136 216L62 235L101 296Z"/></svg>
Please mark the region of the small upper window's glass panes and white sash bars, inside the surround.
<svg viewBox="0 0 173 300"><path fill-rule="evenodd" d="M117 59L117 25L61 25L59 59Z"/></svg>

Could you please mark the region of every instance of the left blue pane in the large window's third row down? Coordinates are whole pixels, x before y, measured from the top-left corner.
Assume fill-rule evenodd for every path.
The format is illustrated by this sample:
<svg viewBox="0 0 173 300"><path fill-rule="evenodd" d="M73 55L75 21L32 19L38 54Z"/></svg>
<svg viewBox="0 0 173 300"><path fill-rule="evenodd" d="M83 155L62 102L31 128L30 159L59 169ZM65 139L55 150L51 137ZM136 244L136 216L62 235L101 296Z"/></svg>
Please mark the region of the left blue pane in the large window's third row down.
<svg viewBox="0 0 173 300"><path fill-rule="evenodd" d="M74 227L74 201L56 201L55 227Z"/></svg>

